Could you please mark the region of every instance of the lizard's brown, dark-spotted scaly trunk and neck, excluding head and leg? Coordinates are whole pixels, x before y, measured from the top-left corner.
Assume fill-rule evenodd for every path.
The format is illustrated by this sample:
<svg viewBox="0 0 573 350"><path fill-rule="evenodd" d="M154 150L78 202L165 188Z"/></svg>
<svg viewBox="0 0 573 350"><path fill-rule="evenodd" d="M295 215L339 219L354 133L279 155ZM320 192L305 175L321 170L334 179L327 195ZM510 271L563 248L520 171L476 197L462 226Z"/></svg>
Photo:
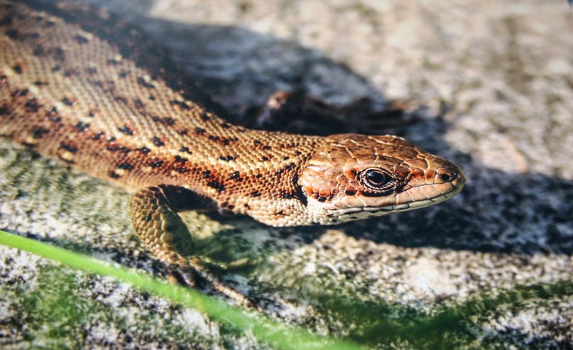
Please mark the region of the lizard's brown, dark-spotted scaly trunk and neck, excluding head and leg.
<svg viewBox="0 0 573 350"><path fill-rule="evenodd" d="M107 11L28 3L0 3L1 135L130 190L181 186L242 214L249 197L299 202L295 172L317 138L227 123L160 45Z"/></svg>

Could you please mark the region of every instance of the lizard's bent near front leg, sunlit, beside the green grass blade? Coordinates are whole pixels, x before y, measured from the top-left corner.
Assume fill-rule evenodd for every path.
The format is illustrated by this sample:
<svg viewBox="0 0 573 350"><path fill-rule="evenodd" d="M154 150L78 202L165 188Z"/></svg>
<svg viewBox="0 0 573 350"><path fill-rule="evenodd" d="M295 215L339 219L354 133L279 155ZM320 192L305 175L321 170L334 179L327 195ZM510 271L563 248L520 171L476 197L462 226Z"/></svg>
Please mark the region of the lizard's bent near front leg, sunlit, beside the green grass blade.
<svg viewBox="0 0 573 350"><path fill-rule="evenodd" d="M195 257L195 242L178 212L208 207L204 199L182 187L158 185L139 190L131 200L130 214L139 239L160 261L177 266L185 283L192 284L189 273L194 271L219 292L240 305L254 307L240 292L229 288L202 266Z"/></svg>

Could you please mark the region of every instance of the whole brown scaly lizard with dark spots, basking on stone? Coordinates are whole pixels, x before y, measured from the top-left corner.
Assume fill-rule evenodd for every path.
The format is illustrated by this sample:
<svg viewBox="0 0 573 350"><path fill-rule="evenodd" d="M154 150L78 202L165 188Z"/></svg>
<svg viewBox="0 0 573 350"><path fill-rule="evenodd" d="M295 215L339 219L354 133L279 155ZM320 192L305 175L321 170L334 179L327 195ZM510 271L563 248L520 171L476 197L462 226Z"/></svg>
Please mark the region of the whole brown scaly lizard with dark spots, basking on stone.
<svg viewBox="0 0 573 350"><path fill-rule="evenodd" d="M397 136L253 131L224 116L106 11L0 1L0 135L136 192L133 226L163 261L201 270L185 209L338 224L441 202L464 184L456 165Z"/></svg>

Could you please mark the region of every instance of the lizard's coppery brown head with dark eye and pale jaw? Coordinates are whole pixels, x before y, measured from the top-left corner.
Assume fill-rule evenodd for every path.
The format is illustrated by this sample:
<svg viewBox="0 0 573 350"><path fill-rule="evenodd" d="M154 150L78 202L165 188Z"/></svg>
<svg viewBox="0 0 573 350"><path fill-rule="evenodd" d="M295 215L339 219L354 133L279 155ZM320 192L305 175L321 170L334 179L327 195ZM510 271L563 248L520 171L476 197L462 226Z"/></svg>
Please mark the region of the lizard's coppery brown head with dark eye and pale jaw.
<svg viewBox="0 0 573 350"><path fill-rule="evenodd" d="M312 222L339 224L442 202L464 182L456 165L398 136L342 134L324 138L298 185Z"/></svg>

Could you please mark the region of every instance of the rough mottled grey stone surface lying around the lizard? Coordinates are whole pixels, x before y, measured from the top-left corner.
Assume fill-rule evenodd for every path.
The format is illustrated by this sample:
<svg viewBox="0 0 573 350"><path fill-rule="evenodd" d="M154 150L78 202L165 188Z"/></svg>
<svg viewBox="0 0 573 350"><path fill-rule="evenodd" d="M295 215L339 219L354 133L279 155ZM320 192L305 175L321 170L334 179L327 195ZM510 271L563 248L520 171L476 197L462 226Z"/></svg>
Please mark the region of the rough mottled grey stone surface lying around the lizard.
<svg viewBox="0 0 573 350"><path fill-rule="evenodd" d="M165 45L236 122L278 90L339 105L407 101L420 117L400 134L464 169L466 187L448 202L343 226L271 229L190 213L191 230L214 237L206 253L262 261L224 278L264 312L381 348L573 344L573 296L570 285L560 289L573 275L565 1L92 2ZM0 228L165 276L133 236L123 190L5 140L0 168ZM0 249L4 347L267 346L128 285ZM520 286L539 283L553 292L515 302ZM50 288L83 311L67 305L38 317ZM469 310L476 300L493 302L433 338L386 337L395 328L375 325Z"/></svg>

